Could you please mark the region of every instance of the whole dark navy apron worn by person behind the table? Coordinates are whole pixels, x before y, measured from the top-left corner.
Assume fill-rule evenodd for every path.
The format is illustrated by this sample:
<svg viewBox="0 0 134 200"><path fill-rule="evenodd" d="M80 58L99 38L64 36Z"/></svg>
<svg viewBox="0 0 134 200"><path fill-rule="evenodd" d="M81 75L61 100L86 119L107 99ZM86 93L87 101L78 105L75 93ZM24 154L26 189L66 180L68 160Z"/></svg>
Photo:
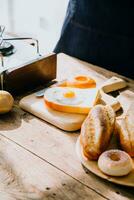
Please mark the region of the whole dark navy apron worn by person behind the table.
<svg viewBox="0 0 134 200"><path fill-rule="evenodd" d="M70 0L54 51L134 78L134 1Z"/></svg>

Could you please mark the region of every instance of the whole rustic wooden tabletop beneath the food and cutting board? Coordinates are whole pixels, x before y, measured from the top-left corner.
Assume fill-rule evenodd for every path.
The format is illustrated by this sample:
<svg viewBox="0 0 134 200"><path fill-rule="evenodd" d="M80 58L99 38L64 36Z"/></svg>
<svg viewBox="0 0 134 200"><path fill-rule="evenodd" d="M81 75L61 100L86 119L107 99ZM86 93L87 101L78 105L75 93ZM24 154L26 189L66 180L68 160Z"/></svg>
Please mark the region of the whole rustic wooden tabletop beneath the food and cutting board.
<svg viewBox="0 0 134 200"><path fill-rule="evenodd" d="M117 75L64 54L58 79L77 74L103 82ZM131 90L134 81L125 78ZM0 200L134 199L133 188L105 181L87 171L75 153L79 132L68 133L15 106L0 116Z"/></svg>

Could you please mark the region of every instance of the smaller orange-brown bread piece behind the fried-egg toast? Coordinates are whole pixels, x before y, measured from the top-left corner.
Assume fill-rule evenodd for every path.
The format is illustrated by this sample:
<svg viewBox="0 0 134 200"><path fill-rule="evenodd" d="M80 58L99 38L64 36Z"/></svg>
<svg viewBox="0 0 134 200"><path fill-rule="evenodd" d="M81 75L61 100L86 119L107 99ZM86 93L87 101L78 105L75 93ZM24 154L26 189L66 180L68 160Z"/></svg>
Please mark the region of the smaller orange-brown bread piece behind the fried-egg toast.
<svg viewBox="0 0 134 200"><path fill-rule="evenodd" d="M75 76L71 80L67 80L59 85L60 87L75 87L75 88L94 88L96 87L96 82L94 79L85 76L79 75Z"/></svg>

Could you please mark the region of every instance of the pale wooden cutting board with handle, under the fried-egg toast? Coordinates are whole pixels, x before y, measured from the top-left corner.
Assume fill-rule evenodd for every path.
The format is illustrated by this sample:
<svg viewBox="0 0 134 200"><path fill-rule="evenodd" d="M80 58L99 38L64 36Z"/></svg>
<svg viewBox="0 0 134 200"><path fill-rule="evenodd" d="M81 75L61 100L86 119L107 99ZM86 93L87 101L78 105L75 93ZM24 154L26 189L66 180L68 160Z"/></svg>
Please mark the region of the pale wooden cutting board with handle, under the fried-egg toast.
<svg viewBox="0 0 134 200"><path fill-rule="evenodd" d="M123 80L112 77L111 79L108 79L108 81L106 81L103 86L105 86L105 90L107 89L108 92L111 92L125 87L126 84ZM110 104L111 102L114 107L119 107L118 101L114 99L115 98L110 97L107 94L104 95L104 99L102 98L102 100L105 100L106 103L108 102ZM83 114L63 113L52 110L45 105L43 97L36 97L35 94L28 95L21 99L19 105L22 109L65 131L79 130L87 116Z"/></svg>

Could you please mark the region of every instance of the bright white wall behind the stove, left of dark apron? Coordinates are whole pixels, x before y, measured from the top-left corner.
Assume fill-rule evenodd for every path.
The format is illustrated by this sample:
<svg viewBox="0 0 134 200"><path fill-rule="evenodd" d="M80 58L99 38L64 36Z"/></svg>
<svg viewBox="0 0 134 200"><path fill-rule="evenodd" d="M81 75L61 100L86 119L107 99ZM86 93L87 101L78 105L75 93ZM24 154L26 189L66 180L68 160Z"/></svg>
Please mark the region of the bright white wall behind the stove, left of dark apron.
<svg viewBox="0 0 134 200"><path fill-rule="evenodd" d="M18 35L39 39L41 52L48 53L59 39L67 4L68 0L0 0L0 23Z"/></svg>

